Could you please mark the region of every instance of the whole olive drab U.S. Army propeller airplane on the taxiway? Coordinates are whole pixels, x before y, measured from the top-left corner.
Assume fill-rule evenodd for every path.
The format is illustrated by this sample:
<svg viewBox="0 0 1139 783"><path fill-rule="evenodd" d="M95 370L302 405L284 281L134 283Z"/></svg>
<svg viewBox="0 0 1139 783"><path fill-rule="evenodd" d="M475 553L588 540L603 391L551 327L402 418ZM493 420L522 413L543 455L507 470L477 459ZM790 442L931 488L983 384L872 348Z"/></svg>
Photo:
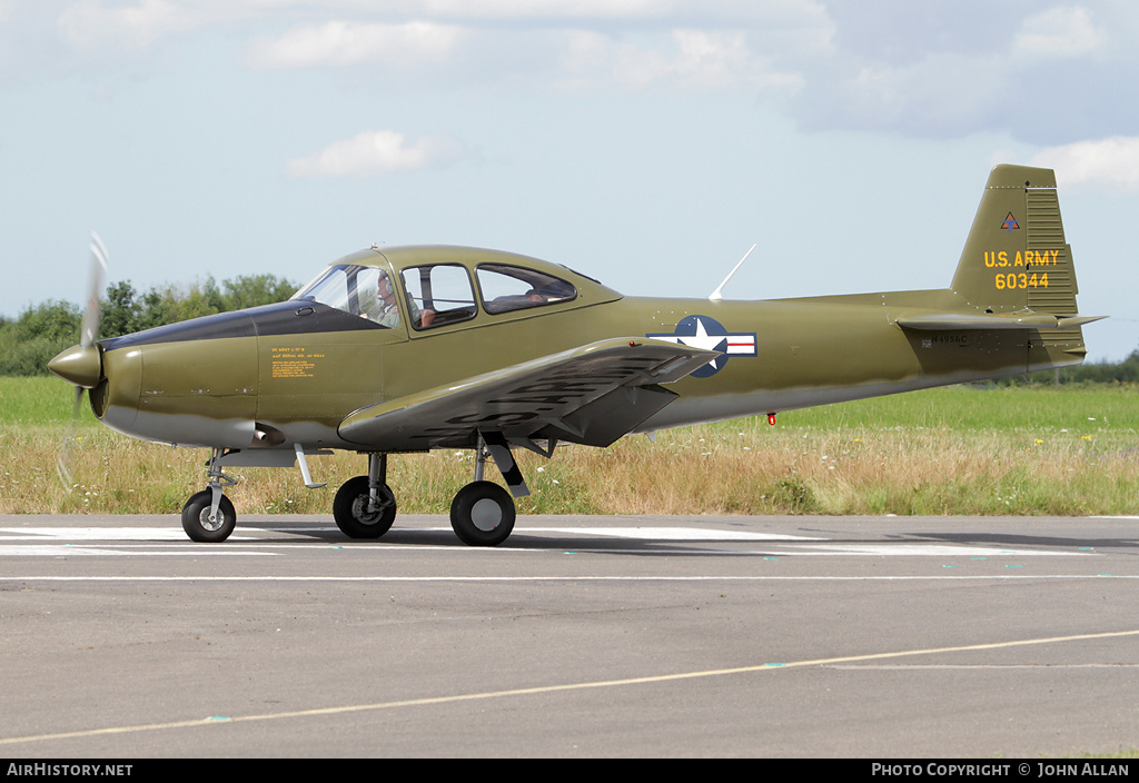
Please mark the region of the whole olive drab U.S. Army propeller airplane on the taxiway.
<svg viewBox="0 0 1139 783"><path fill-rule="evenodd" d="M368 472L339 488L333 517L377 538L396 511L388 455L472 448L451 525L495 545L514 528L511 495L528 494L516 448L549 458L560 444L1077 364L1096 318L1076 314L1075 296L1052 172L1002 165L944 289L636 298L508 253L371 247L288 302L98 341L88 320L49 368L76 403L90 389L112 429L211 450L208 485L182 511L194 541L233 530L227 468L298 464L317 487L309 456L359 452ZM487 458L509 493L484 480Z"/></svg>

